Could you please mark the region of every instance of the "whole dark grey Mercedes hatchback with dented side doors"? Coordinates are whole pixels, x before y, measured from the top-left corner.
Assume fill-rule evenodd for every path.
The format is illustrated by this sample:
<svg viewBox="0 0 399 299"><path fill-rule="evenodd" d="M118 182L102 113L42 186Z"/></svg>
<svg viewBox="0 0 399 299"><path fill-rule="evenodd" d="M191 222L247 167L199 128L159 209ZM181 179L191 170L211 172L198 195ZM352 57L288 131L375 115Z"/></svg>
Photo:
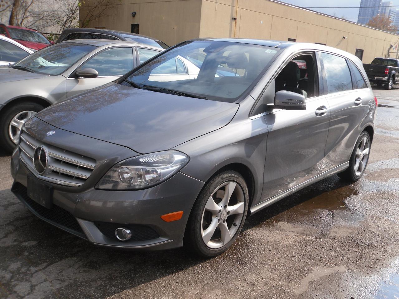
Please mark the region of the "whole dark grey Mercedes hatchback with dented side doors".
<svg viewBox="0 0 399 299"><path fill-rule="evenodd" d="M196 78L153 76L198 56ZM303 89L295 61L306 63ZM184 244L215 256L248 214L330 175L359 180L376 108L361 61L347 52L194 39L30 118L12 155L12 191L93 244Z"/></svg>

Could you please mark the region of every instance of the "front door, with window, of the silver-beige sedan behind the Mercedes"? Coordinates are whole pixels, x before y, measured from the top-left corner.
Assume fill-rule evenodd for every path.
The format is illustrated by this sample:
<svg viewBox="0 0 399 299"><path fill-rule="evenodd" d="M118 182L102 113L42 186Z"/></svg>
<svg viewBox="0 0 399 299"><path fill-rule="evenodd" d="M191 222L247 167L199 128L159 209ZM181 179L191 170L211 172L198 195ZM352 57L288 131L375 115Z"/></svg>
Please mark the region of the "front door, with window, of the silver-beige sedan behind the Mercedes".
<svg viewBox="0 0 399 299"><path fill-rule="evenodd" d="M67 97L104 85L135 67L133 47L113 47L96 53L82 63L66 80ZM75 72L80 69L95 69L97 78L77 78Z"/></svg>

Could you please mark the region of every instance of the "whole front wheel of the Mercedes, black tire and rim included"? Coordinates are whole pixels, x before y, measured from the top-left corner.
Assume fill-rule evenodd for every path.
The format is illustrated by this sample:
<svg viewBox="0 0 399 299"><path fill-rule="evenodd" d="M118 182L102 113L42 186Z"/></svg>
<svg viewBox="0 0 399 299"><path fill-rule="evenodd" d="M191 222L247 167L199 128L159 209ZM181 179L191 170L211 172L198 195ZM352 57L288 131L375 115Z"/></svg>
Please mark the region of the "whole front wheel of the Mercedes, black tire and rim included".
<svg viewBox="0 0 399 299"><path fill-rule="evenodd" d="M227 192L229 189L233 191ZM226 192L230 197L224 197ZM248 202L247 184L237 171L215 175L194 203L186 228L186 248L206 258L225 252L244 225Z"/></svg>

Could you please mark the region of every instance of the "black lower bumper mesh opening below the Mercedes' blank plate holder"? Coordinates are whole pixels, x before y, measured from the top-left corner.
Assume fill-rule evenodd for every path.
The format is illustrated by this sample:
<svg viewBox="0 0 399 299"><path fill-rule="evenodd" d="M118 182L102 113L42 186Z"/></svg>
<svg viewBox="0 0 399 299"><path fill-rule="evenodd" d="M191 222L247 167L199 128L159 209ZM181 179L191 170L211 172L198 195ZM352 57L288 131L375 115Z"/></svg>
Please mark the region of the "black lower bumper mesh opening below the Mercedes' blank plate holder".
<svg viewBox="0 0 399 299"><path fill-rule="evenodd" d="M42 205L39 205L38 203L36 203L36 201L33 201L28 196L28 191L26 187L20 183L16 183L13 186L12 191L16 193L16 195L19 195L19 199L32 211L34 211L40 218L44 218L56 226L61 226L62 228L66 228L67 230L72 231L74 234L77 234L82 238L86 238L76 218L67 210L62 209L57 205L53 205L53 208L50 210L43 207Z"/></svg>

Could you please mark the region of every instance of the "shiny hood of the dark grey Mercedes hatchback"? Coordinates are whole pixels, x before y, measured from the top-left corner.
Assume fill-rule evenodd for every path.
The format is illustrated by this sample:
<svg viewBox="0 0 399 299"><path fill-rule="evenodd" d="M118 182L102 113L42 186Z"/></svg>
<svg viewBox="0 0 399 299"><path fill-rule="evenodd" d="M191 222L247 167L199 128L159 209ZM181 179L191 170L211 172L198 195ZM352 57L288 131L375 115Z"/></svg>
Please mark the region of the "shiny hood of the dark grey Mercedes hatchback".
<svg viewBox="0 0 399 299"><path fill-rule="evenodd" d="M41 120L138 153L173 148L228 124L239 105L109 83L36 114Z"/></svg>

